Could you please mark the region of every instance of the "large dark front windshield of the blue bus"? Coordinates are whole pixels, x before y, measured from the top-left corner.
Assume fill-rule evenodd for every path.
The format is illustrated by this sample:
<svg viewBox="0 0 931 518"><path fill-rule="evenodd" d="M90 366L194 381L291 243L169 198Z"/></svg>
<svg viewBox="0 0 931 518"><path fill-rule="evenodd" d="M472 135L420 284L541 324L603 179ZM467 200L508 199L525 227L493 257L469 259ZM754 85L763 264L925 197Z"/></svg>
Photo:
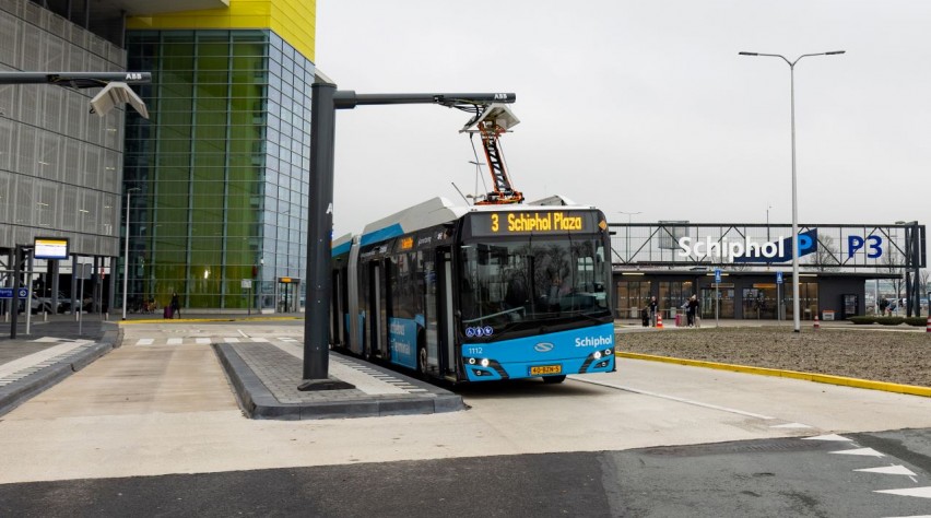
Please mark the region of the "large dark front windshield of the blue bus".
<svg viewBox="0 0 931 518"><path fill-rule="evenodd" d="M611 269L601 236L475 242L461 247L459 307L467 327L499 335L533 322L610 316Z"/></svg>

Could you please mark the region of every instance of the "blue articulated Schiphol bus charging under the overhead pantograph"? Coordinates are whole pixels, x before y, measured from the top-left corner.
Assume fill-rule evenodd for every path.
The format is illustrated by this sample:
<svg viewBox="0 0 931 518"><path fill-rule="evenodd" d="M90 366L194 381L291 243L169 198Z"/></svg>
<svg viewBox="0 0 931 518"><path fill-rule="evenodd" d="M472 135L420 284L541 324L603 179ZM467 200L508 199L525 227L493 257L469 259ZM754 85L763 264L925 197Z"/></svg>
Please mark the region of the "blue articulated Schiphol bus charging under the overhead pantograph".
<svg viewBox="0 0 931 518"><path fill-rule="evenodd" d="M452 382L612 372L609 247L591 207L433 199L333 242L331 343Z"/></svg>

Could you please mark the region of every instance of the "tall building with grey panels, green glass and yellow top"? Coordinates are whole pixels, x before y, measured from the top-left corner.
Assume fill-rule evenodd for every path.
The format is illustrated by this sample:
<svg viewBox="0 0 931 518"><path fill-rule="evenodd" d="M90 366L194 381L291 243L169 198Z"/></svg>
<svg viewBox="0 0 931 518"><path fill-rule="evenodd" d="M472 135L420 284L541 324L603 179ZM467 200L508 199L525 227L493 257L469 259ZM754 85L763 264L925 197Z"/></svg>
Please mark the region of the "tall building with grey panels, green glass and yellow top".
<svg viewBox="0 0 931 518"><path fill-rule="evenodd" d="M73 303L80 284L87 309L118 308L127 275L133 310L172 293L297 310L315 16L313 0L0 0L0 70L153 76L135 89L149 119L90 114L96 89L0 85L0 284L17 246L57 237L69 259L26 267L36 296Z"/></svg>

